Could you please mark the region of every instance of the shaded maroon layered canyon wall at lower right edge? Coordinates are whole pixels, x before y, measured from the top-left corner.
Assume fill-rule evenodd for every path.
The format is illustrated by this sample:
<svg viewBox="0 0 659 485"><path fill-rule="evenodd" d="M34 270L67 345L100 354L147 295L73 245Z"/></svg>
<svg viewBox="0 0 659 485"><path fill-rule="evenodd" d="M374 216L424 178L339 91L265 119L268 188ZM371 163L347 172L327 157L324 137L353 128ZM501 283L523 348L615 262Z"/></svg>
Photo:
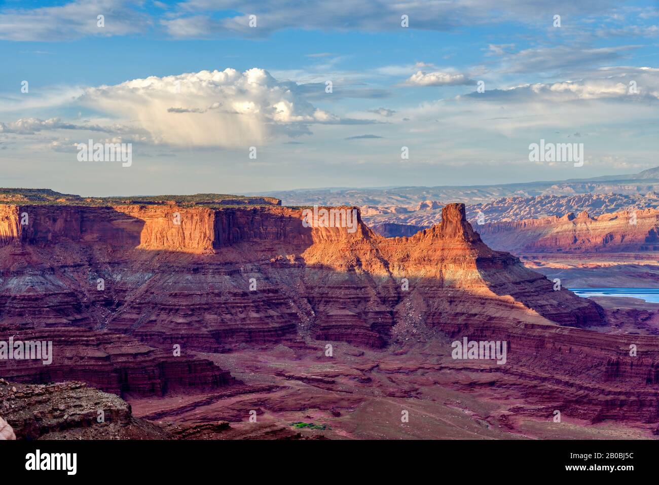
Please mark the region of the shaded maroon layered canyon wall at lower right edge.
<svg viewBox="0 0 659 485"><path fill-rule="evenodd" d="M462 382L501 398L517 395L532 403L529 416L565 416L600 422L659 420L659 339L646 335L609 335L577 328L493 320L480 326L449 322L450 337L503 341L507 361L453 361L456 370L480 369L482 378ZM462 379L459 378L461 382ZM492 387L494 386L494 387Z"/></svg>

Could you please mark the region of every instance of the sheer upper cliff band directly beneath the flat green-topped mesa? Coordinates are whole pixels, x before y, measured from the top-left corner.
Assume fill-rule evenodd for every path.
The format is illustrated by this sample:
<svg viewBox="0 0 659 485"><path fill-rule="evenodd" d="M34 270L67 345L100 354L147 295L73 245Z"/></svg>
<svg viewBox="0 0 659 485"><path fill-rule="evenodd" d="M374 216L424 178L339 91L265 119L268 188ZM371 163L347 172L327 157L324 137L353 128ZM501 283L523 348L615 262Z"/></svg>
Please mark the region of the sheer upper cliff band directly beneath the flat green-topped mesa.
<svg viewBox="0 0 659 485"><path fill-rule="evenodd" d="M326 229L313 231L314 238L341 237L341 231ZM244 241L302 244L312 243L314 239L312 231L302 227L301 210L280 206L213 209L173 204L111 207L0 204L0 246L15 241L47 246L64 240L102 243L112 249L204 253Z"/></svg>

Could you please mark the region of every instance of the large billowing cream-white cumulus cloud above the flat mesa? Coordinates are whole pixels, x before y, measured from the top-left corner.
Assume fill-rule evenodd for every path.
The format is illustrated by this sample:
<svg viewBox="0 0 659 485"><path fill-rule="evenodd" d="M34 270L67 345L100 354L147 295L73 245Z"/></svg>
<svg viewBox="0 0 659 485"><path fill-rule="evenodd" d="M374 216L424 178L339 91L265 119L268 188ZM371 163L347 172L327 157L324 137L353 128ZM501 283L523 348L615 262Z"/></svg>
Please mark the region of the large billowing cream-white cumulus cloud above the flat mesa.
<svg viewBox="0 0 659 485"><path fill-rule="evenodd" d="M308 134L311 123L343 123L304 100L297 84L258 68L134 79L88 88L79 101L178 146L241 147Z"/></svg>

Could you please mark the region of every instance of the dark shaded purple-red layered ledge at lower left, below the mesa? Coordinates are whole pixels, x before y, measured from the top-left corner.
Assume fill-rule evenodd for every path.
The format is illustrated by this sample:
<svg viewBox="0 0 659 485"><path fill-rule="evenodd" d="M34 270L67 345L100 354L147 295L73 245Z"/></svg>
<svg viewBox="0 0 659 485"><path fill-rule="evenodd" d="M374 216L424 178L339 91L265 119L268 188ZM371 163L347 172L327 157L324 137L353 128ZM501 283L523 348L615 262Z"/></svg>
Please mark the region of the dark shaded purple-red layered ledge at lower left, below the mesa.
<svg viewBox="0 0 659 485"><path fill-rule="evenodd" d="M118 333L0 324L0 341L9 343L10 338L14 343L39 342L43 349L51 345L51 352L42 351L41 358L10 359L0 353L0 374L16 382L79 380L117 395L158 396L235 384L210 360L186 355L185 347L176 356L173 347L154 349Z"/></svg>

